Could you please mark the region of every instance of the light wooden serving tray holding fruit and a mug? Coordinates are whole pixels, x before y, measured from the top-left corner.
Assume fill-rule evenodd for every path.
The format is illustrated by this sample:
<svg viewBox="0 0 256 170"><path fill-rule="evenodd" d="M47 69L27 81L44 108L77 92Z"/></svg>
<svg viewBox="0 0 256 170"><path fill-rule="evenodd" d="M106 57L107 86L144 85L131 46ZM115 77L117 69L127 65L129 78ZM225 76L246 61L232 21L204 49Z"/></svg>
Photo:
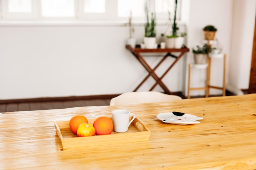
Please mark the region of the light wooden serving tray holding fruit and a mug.
<svg viewBox="0 0 256 170"><path fill-rule="evenodd" d="M88 119L89 124L93 124L94 120ZM150 130L138 118L132 121L127 132L119 133L112 131L110 135L95 135L90 137L77 137L70 130L69 122L54 121L56 132L58 133L63 149L148 141L150 137Z"/></svg>

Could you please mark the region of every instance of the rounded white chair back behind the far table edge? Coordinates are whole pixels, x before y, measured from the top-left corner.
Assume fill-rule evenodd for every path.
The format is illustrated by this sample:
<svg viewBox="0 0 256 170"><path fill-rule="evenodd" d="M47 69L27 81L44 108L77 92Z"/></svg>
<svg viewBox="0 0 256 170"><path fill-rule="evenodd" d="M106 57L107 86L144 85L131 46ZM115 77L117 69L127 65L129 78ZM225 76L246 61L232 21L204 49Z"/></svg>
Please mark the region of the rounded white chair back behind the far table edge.
<svg viewBox="0 0 256 170"><path fill-rule="evenodd" d="M110 101L110 106L152 102L170 102L180 99L182 99L180 96L167 95L156 91L128 92L112 98Z"/></svg>

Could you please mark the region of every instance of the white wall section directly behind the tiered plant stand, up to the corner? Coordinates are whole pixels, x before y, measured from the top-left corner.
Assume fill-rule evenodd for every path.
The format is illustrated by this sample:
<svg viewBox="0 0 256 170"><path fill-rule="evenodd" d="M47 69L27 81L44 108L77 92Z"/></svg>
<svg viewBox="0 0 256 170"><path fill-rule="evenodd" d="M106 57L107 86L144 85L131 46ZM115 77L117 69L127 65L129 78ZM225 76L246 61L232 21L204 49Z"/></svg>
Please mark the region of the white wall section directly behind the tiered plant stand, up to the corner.
<svg viewBox="0 0 256 170"><path fill-rule="evenodd" d="M189 21L188 21L188 46L202 46L205 42L203 28L206 25L214 25L218 30L216 39L221 44L222 53L230 56L230 39L232 24L232 0L191 0ZM189 53L187 63L193 63L193 53ZM228 68L227 68L228 70ZM211 61L211 79L210 84L222 86L223 80L223 60L212 59ZM206 82L206 69L191 69L191 87L204 87ZM184 89L186 91L186 89ZM204 95L205 91L191 91L191 95ZM211 89L210 94L222 94L222 91Z"/></svg>

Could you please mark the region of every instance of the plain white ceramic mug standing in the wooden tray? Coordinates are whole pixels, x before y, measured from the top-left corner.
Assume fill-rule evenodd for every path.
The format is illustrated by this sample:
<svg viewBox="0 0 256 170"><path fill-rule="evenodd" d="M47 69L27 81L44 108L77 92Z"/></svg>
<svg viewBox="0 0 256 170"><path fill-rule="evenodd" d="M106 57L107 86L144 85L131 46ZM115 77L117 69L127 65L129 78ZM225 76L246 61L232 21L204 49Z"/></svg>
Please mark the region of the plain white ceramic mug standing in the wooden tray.
<svg viewBox="0 0 256 170"><path fill-rule="evenodd" d="M128 127L135 119L135 115L130 113L128 110L113 110L112 112L112 122L113 122L113 130L115 132L126 132ZM132 119L130 120L130 116ZM129 121L130 120L130 121Z"/></svg>

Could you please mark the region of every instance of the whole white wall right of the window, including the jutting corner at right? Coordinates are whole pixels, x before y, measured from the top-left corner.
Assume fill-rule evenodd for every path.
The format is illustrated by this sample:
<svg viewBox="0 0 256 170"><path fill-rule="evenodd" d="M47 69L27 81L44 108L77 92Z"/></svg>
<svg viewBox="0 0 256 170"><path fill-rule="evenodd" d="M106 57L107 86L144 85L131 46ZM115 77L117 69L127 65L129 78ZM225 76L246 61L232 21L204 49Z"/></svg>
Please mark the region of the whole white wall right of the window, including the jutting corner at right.
<svg viewBox="0 0 256 170"><path fill-rule="evenodd" d="M202 28L208 24L217 27L216 38L227 55L227 88L248 89L255 24L255 0L191 0L189 16L185 17L188 27L187 45L195 47L203 44ZM193 62L189 53L186 65ZM223 60L212 59L211 80L213 86L222 87ZM186 71L187 73L187 71ZM191 87L205 86L206 70L192 68ZM187 80L188 75L186 74ZM187 81L183 91L187 94ZM191 91L191 95L204 95L204 91ZM210 94L222 94L211 89Z"/></svg>

